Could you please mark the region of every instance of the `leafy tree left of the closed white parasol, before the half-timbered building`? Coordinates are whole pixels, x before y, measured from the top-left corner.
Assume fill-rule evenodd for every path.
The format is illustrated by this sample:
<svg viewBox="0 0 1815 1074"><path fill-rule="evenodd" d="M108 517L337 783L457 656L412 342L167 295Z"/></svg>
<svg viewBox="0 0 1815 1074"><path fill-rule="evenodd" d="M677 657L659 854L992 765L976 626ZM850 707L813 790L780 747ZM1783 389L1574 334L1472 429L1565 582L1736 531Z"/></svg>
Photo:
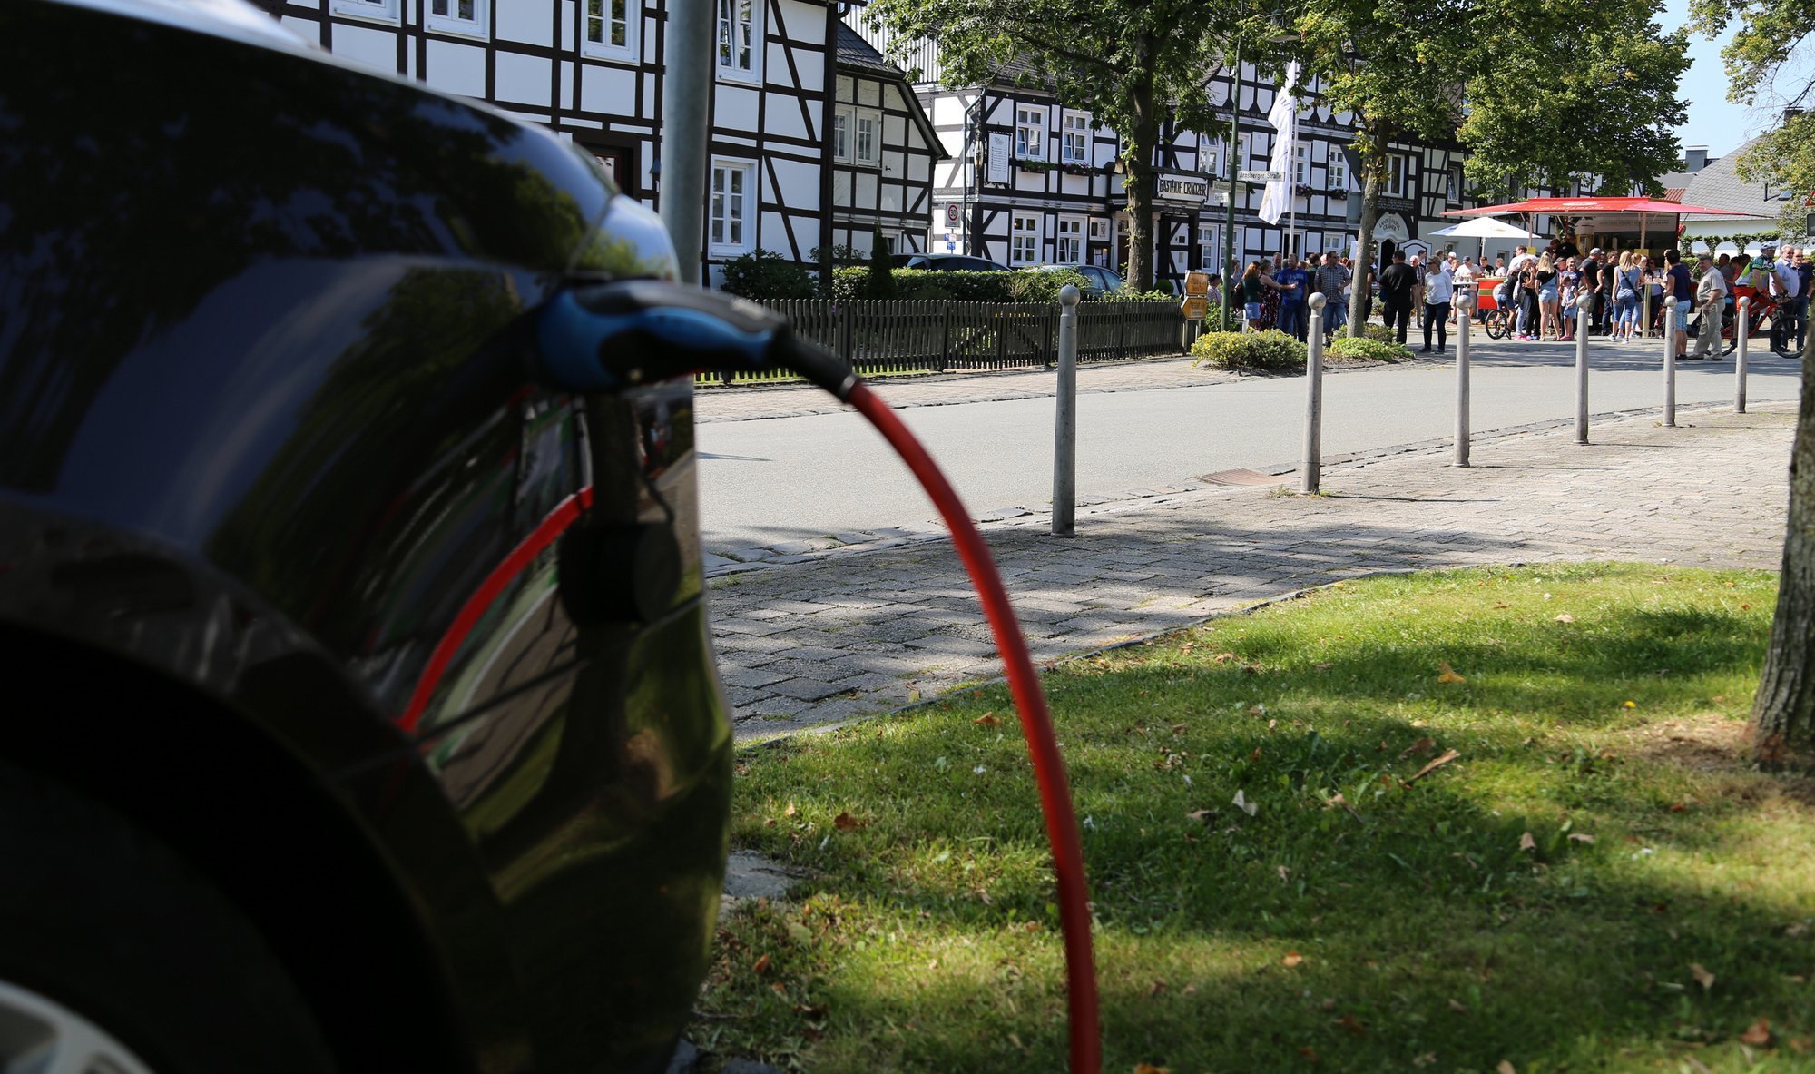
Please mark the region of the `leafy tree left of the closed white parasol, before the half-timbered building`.
<svg viewBox="0 0 1815 1074"><path fill-rule="evenodd" d="M1049 85L1122 138L1129 283L1153 287L1153 160L1171 114L1209 120L1205 74L1234 33L1227 5L1202 0L875 0L869 18L906 47L938 45L947 85L987 85L1006 71ZM898 53L904 58L904 51Z"/></svg>

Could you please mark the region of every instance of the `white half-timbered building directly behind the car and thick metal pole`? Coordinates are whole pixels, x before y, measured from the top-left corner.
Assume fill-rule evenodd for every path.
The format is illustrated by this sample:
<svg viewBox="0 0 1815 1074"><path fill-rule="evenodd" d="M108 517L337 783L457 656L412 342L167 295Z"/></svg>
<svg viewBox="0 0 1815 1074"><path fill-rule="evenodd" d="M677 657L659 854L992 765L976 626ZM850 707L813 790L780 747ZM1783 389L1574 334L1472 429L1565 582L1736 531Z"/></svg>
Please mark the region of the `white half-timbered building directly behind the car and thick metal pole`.
<svg viewBox="0 0 1815 1074"><path fill-rule="evenodd" d="M338 56L548 123L659 200L662 0L258 2ZM837 31L824 0L719 0L708 270L757 249L809 263L829 236Z"/></svg>

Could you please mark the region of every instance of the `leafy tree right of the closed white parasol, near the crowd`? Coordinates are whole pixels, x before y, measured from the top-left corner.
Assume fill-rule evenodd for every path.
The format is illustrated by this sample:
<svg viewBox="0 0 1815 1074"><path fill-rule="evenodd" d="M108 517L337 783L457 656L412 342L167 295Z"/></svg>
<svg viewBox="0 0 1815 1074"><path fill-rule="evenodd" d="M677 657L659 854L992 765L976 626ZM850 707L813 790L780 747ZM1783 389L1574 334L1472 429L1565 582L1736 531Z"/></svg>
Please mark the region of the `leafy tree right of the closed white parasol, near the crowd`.
<svg viewBox="0 0 1815 1074"><path fill-rule="evenodd" d="M1588 172L1604 185L1655 185L1677 160L1670 127L1681 122L1675 76L1686 67L1686 38L1661 36L1657 9L1657 0L1309 0L1292 51L1321 76L1325 102L1354 114L1363 256L1387 149L1399 140L1461 138L1476 156L1470 178L1490 189ZM1358 281L1350 336L1361 334L1365 296Z"/></svg>

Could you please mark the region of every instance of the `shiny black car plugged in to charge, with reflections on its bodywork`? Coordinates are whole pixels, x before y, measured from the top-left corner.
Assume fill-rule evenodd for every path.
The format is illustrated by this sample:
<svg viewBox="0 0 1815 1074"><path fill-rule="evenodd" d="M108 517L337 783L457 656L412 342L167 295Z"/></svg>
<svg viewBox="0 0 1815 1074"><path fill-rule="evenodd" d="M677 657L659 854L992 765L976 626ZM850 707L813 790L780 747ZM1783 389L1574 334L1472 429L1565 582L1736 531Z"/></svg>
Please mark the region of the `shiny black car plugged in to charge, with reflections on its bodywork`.
<svg viewBox="0 0 1815 1074"><path fill-rule="evenodd" d="M231 0L0 4L0 1069L662 1070L730 800L692 388L532 330L661 225Z"/></svg>

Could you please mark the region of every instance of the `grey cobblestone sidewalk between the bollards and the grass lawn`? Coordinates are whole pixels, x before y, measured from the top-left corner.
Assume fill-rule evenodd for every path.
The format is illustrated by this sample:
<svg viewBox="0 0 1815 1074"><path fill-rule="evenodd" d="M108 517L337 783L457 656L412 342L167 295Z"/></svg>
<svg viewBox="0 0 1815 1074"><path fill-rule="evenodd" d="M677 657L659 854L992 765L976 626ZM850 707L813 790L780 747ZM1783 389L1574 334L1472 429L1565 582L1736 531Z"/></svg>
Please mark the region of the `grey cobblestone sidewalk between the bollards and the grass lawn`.
<svg viewBox="0 0 1815 1074"><path fill-rule="evenodd" d="M1080 508L1078 537L1029 513L986 526L1035 659L1147 637L1381 570L1650 559L1777 568L1795 408L1679 410L1594 428L1325 464L1325 495L1153 490ZM713 637L737 737L848 720L1000 675L944 541L840 550L724 575Z"/></svg>

